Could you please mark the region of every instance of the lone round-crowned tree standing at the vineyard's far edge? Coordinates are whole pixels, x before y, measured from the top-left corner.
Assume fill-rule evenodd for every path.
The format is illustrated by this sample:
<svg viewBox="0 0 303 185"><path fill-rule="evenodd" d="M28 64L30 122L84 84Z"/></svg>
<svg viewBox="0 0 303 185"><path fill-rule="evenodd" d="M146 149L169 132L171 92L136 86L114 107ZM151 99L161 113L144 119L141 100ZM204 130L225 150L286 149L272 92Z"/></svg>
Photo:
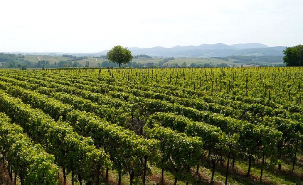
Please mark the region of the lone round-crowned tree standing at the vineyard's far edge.
<svg viewBox="0 0 303 185"><path fill-rule="evenodd" d="M133 59L131 51L128 50L127 47L122 47L120 45L111 48L106 56L110 62L118 63L119 68L121 64L127 64Z"/></svg>

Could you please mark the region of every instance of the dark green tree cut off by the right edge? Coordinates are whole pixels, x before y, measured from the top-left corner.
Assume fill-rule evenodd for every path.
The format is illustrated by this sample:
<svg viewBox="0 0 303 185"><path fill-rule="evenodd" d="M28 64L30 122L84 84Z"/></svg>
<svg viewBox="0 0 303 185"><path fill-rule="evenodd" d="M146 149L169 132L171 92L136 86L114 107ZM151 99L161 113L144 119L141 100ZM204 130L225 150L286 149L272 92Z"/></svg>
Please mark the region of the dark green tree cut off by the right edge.
<svg viewBox="0 0 303 185"><path fill-rule="evenodd" d="M303 45L286 47L283 53L286 66L303 66Z"/></svg>

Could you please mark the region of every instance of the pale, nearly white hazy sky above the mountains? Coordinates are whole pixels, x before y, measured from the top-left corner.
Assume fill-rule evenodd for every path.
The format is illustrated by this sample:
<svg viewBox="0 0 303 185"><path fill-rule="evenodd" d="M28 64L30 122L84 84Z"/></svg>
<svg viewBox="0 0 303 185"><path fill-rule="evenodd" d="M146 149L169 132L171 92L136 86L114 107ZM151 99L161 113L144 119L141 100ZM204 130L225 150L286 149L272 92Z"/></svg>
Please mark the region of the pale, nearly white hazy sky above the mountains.
<svg viewBox="0 0 303 185"><path fill-rule="evenodd" d="M0 52L303 44L302 0L1 0Z"/></svg>

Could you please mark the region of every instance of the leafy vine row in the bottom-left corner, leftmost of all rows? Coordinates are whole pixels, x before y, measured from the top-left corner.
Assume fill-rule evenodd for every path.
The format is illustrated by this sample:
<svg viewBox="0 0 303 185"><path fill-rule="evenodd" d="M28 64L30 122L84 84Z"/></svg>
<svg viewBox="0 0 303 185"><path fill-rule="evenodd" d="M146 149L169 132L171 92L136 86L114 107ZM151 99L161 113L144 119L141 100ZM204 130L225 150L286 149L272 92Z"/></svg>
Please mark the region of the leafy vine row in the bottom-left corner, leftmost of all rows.
<svg viewBox="0 0 303 185"><path fill-rule="evenodd" d="M1 161L6 160L25 185L58 184L54 156L47 154L40 144L31 142L22 127L12 124L3 113L0 113L0 153Z"/></svg>

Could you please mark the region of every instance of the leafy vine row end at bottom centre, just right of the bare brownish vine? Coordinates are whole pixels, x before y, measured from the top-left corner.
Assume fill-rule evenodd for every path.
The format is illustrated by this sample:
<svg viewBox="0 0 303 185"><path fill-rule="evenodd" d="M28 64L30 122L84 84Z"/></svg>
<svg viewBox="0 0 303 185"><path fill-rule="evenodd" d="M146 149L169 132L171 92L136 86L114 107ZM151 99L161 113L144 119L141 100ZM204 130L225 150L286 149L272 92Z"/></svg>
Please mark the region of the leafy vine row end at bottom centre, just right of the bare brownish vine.
<svg viewBox="0 0 303 185"><path fill-rule="evenodd" d="M203 140L161 126L152 129L145 126L144 132L148 138L161 141L157 146L160 152L157 161L159 167L169 169L177 179L189 180L190 167L199 164L203 155Z"/></svg>

